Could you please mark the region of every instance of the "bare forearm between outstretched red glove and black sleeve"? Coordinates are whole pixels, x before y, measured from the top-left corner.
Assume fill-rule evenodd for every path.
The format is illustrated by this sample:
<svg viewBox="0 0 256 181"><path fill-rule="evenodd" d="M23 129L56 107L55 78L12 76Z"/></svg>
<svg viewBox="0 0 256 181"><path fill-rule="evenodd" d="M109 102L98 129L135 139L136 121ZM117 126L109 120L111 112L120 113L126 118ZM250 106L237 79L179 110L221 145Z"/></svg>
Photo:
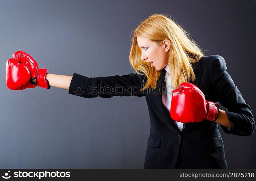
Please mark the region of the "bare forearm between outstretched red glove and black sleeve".
<svg viewBox="0 0 256 181"><path fill-rule="evenodd" d="M48 80L50 86L61 89L68 89L72 76L47 73L46 79Z"/></svg>

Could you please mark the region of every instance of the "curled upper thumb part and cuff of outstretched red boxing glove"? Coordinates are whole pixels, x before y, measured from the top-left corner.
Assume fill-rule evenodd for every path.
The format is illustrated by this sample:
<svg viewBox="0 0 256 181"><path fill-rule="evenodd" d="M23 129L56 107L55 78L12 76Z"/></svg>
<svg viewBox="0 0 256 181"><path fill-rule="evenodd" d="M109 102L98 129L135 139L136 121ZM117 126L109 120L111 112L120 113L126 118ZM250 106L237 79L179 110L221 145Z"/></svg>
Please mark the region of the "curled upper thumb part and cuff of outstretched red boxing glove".
<svg viewBox="0 0 256 181"><path fill-rule="evenodd" d="M39 87L43 87L45 89L51 88L48 80L46 79L47 69L38 68L38 64L36 60L32 58L32 56L24 51L16 51L13 54L13 60L20 62L29 68L30 81L32 85L35 85L35 87L38 85Z"/></svg>

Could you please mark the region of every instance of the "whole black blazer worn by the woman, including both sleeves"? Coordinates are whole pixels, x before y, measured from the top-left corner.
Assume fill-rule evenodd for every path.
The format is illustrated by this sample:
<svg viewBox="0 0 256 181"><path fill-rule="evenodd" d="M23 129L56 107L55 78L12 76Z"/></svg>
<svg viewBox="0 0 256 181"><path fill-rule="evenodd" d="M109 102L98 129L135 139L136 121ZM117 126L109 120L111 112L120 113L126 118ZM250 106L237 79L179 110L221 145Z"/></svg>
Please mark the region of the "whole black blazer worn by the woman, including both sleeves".
<svg viewBox="0 0 256 181"><path fill-rule="evenodd" d="M255 130L252 109L226 71L224 58L219 55L203 56L199 62L192 63L192 67L196 80L190 83L203 91L206 100L219 102L228 109L226 113L231 129L220 125L223 131L252 135ZM165 69L161 70L156 90L148 88L142 92L139 88L145 85L147 77L137 73L91 78L74 73L69 94L85 98L145 96L151 129L144 168L176 168L179 153L184 168L228 168L218 123L205 119L200 123L184 123L185 128L179 131L171 119L161 99L165 73Z"/></svg>

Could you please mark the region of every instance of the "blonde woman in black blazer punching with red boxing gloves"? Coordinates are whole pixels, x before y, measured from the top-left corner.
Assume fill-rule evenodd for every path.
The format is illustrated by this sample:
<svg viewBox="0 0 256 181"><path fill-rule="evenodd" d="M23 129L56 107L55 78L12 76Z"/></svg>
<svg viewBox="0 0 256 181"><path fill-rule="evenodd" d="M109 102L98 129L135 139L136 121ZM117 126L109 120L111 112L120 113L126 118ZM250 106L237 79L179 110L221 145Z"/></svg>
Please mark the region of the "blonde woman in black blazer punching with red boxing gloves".
<svg viewBox="0 0 256 181"><path fill-rule="evenodd" d="M6 83L85 98L145 96L151 130L144 168L228 168L218 123L225 133L252 135L255 122L223 57L204 56L180 25L153 14L134 31L129 60L136 73L89 78L48 73L18 51L7 60Z"/></svg>

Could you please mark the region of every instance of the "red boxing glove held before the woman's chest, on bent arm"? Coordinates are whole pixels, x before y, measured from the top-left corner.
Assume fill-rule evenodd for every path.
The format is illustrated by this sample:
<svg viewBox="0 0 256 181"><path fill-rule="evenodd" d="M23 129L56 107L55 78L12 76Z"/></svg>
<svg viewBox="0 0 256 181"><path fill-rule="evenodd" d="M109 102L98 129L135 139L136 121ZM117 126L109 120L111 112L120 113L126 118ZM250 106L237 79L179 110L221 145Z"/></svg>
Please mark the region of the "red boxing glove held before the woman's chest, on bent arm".
<svg viewBox="0 0 256 181"><path fill-rule="evenodd" d="M204 93L196 85L183 82L172 91L171 118L182 123L216 121L219 104L205 100Z"/></svg>

